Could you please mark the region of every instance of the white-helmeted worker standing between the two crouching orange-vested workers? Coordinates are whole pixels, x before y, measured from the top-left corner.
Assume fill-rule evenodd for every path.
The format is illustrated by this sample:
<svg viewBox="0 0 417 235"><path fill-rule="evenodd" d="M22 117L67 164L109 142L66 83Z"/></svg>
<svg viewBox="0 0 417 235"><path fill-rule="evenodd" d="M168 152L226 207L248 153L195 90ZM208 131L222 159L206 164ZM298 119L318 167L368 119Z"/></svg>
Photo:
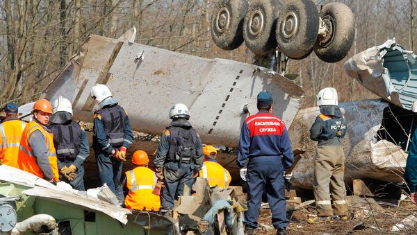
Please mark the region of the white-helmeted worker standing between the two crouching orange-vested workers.
<svg viewBox="0 0 417 235"><path fill-rule="evenodd" d="M202 141L188 122L188 107L177 103L171 107L170 127L161 134L154 165L165 188L161 195L161 212L167 215L174 207L174 199L183 195L184 185L190 189L203 163Z"/></svg>

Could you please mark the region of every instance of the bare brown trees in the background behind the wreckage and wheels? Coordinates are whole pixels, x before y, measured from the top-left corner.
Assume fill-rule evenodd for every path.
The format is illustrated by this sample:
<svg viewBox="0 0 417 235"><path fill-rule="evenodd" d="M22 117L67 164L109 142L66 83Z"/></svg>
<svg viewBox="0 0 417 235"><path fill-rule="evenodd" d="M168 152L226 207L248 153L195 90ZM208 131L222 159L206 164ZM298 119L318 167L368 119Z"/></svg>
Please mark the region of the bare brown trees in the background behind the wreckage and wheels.
<svg viewBox="0 0 417 235"><path fill-rule="evenodd" d="M331 2L316 0L318 5ZM395 40L416 50L417 0L344 0L357 19L347 56ZM215 0L3 0L0 1L0 109L8 101L33 101L90 34L119 37L132 26L136 42L206 58L252 62L245 45L222 51L211 41ZM290 60L290 73L306 90L304 107L314 105L322 87L338 89L341 101L373 98L347 77L345 58L336 64L315 55Z"/></svg>

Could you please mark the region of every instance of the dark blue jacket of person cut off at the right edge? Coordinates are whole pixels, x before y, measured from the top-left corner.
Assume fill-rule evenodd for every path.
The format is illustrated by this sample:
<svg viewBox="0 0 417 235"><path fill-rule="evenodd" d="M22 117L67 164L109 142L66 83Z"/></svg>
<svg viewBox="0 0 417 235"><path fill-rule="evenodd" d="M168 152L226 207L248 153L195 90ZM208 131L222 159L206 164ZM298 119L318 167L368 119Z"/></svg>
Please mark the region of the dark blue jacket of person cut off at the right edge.
<svg viewBox="0 0 417 235"><path fill-rule="evenodd" d="M417 192L417 131L411 138L407 166L405 166L404 180L407 182L410 192Z"/></svg>

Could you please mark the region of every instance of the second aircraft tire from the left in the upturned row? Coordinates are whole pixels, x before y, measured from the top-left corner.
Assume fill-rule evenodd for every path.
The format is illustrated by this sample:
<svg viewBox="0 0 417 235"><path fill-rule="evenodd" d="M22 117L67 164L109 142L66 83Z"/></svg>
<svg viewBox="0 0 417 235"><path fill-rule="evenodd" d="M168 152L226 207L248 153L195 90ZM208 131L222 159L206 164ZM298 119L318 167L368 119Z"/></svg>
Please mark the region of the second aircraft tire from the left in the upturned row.
<svg viewBox="0 0 417 235"><path fill-rule="evenodd" d="M277 21L279 1L252 0L243 24L245 45L255 55L271 53L277 47L275 21Z"/></svg>

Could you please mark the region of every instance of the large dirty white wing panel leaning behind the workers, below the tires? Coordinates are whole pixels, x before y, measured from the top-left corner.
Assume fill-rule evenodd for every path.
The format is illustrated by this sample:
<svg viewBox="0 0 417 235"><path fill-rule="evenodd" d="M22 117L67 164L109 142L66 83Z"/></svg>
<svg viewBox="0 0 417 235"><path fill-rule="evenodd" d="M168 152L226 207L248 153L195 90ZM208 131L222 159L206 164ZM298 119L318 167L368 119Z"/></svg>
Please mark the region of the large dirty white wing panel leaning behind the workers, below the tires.
<svg viewBox="0 0 417 235"><path fill-rule="evenodd" d="M97 108L90 97L95 83L110 87L129 113L132 129L160 134L174 103L190 110L190 122L204 143L238 146L240 127L257 112L256 95L273 94L274 114L290 126L304 91L284 76L253 64L206 59L131 43L133 32L120 40L92 35L43 97L72 101L74 119L92 121ZM129 40L126 41L126 40Z"/></svg>

